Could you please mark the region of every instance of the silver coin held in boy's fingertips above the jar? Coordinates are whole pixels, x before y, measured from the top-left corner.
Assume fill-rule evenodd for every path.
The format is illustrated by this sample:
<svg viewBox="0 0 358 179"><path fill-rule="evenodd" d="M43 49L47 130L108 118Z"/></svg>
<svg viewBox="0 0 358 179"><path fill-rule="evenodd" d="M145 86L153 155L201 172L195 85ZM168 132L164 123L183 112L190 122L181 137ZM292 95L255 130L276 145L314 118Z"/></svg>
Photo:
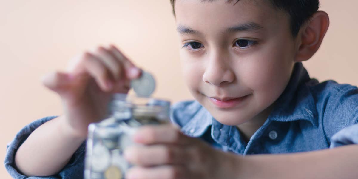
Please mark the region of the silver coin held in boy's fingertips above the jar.
<svg viewBox="0 0 358 179"><path fill-rule="evenodd" d="M149 97L154 92L155 79L150 73L142 71L139 78L131 81L131 88L134 89L137 96Z"/></svg>

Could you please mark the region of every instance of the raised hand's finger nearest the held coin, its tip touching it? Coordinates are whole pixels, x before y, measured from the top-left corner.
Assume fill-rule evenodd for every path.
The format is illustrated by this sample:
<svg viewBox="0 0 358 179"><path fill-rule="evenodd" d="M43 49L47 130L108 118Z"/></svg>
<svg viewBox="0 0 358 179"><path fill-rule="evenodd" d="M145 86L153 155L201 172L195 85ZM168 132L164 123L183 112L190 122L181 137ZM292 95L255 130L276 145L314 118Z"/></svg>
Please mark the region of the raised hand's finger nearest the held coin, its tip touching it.
<svg viewBox="0 0 358 179"><path fill-rule="evenodd" d="M125 57L125 55L118 50L117 47L110 45L108 50L118 59L118 61L122 62L125 74L129 79L140 77L141 70L137 68L127 57Z"/></svg>

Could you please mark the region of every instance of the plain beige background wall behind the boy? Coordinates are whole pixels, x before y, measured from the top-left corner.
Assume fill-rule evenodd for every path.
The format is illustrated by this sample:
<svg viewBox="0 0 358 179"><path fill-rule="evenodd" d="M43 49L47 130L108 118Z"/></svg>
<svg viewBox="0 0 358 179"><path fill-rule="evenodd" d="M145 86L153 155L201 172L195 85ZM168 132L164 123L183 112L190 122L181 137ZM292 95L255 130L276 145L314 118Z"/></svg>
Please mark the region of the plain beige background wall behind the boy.
<svg viewBox="0 0 358 179"><path fill-rule="evenodd" d="M318 53L305 66L320 81L358 85L358 12L355 0L321 0L331 25ZM6 144L24 125L61 114L55 93L40 78L64 70L69 59L98 44L114 43L151 71L155 96L190 99L178 57L169 0L0 1L0 161ZM10 178L0 167L0 178Z"/></svg>

